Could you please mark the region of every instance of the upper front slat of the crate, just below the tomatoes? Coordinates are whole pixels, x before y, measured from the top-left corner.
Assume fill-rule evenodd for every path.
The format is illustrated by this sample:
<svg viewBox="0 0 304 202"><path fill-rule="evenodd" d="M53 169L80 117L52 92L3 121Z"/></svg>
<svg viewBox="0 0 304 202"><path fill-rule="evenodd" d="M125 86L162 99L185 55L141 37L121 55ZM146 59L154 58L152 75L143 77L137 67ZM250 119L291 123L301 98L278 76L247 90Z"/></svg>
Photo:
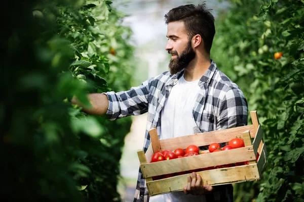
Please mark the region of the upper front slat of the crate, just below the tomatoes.
<svg viewBox="0 0 304 202"><path fill-rule="evenodd" d="M250 160L255 160L252 146L142 164L141 169L143 176L146 178Z"/></svg>

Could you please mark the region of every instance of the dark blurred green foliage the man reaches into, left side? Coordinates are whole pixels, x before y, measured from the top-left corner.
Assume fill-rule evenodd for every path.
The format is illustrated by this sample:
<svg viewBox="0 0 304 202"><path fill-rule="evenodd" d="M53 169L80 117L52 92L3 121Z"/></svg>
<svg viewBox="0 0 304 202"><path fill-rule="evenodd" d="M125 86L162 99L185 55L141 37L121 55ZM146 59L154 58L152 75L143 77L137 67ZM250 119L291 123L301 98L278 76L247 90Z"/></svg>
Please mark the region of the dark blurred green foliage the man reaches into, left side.
<svg viewBox="0 0 304 202"><path fill-rule="evenodd" d="M131 30L110 1L9 3L2 40L3 198L119 201L119 160L131 119L71 106L75 94L131 87ZM120 64L120 65L119 65ZM123 65L121 65L123 64Z"/></svg>

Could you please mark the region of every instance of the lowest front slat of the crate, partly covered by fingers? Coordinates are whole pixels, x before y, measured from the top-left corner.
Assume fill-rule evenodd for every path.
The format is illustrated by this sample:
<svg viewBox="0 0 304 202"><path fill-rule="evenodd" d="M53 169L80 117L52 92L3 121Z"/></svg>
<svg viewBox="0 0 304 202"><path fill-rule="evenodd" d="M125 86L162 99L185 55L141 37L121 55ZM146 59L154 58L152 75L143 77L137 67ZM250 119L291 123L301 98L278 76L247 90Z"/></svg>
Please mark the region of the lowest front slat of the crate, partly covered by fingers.
<svg viewBox="0 0 304 202"><path fill-rule="evenodd" d="M259 173L256 164L201 171L197 173L202 177L202 184L213 186L259 180ZM158 195L183 190L184 185L187 183L188 175L190 174L147 182L146 184L149 190L149 195Z"/></svg>

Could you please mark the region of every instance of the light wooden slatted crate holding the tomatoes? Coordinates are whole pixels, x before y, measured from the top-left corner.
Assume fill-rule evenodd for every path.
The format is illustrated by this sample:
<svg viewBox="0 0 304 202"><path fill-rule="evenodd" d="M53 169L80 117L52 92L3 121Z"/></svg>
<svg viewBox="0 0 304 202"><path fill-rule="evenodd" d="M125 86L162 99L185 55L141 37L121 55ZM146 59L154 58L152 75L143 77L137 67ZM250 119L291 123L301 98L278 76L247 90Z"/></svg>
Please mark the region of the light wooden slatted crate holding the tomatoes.
<svg viewBox="0 0 304 202"><path fill-rule="evenodd" d="M256 111L250 112L252 125L235 127L224 130L217 130L182 137L159 140L156 128L149 131L151 144L146 153L138 150L138 158L143 177L150 196L164 194L173 191L183 190L187 183L189 174L178 175L160 180L153 180L152 177L191 171L207 168L211 166L225 165L236 162L249 161L249 165L235 166L197 172L201 175L203 184L212 186L259 180L261 172L266 163L267 150L263 143L262 128L259 124ZM153 154L158 150L174 150L176 148L186 148L188 145L197 146L210 145L213 142L228 142L236 136L244 139L245 147L231 150L223 150L216 153L206 153L203 155L166 160L161 162L147 163L151 161ZM254 138L252 141L251 138ZM256 154L259 159L256 162Z"/></svg>

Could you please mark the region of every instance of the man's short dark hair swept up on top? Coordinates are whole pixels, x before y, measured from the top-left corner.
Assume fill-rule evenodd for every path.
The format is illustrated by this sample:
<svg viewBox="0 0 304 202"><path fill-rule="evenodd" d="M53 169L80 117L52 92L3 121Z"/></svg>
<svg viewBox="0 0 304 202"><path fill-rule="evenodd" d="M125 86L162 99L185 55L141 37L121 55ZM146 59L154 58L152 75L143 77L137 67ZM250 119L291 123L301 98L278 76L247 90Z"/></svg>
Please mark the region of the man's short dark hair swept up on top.
<svg viewBox="0 0 304 202"><path fill-rule="evenodd" d="M196 34L200 34L204 41L205 51L210 54L213 37L215 34L214 17L211 9L207 9L205 3L195 6L193 4L179 6L171 9L165 15L165 22L182 21L191 39Z"/></svg>

